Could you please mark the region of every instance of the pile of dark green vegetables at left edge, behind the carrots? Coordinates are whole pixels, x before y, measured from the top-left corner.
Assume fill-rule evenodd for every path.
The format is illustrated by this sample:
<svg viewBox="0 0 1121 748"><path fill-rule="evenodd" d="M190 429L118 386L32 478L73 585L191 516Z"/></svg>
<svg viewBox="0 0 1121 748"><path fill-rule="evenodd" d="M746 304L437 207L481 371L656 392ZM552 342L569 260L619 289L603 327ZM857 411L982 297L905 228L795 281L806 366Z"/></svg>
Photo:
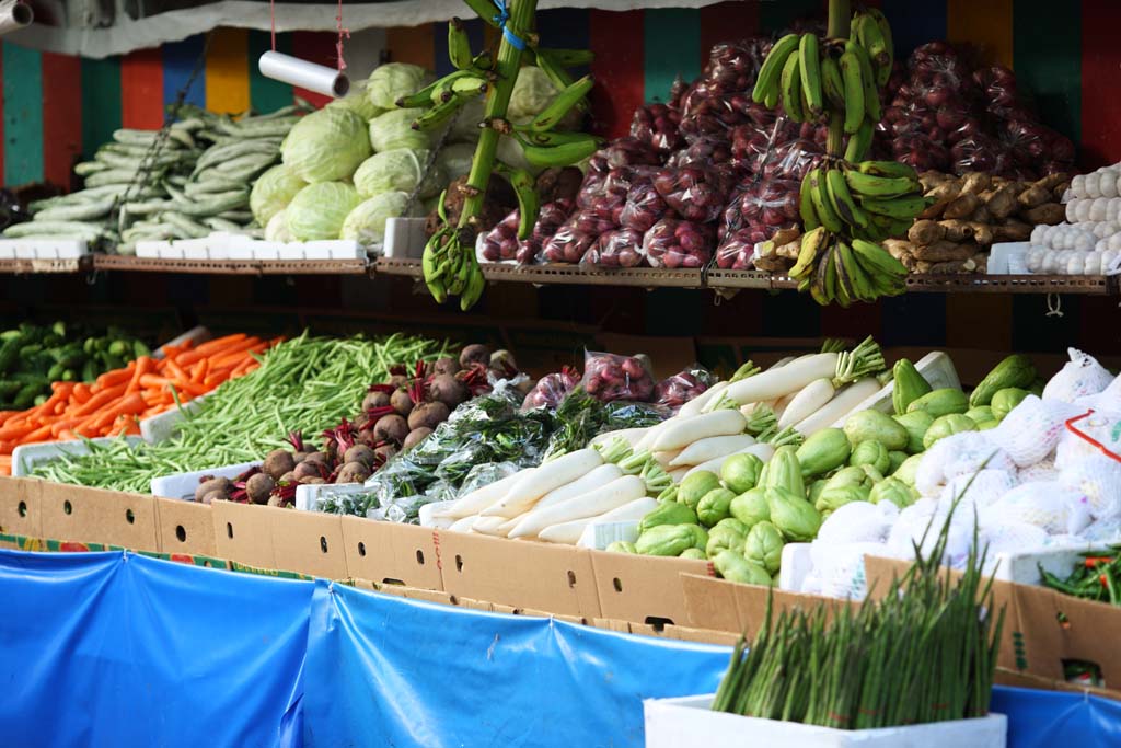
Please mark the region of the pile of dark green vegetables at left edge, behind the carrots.
<svg viewBox="0 0 1121 748"><path fill-rule="evenodd" d="M25 322L0 332L0 410L41 405L50 396L52 382L93 381L150 353L143 341L118 327L95 335L63 322L49 326Z"/></svg>

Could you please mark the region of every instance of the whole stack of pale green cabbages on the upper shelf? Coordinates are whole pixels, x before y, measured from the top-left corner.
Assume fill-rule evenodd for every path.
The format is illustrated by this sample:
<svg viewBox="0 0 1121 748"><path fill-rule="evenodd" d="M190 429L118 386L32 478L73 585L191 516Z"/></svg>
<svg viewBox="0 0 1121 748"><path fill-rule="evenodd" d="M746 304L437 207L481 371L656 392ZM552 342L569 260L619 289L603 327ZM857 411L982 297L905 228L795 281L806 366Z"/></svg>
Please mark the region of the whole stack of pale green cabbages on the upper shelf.
<svg viewBox="0 0 1121 748"><path fill-rule="evenodd" d="M432 73L416 65L381 65L364 86L300 120L281 147L282 164L253 185L250 207L266 227L265 238L354 239L377 247L386 221L410 211L414 191L418 202L432 201L451 181L467 174L483 118L481 98L461 110L446 136L414 130L413 121L423 110L397 107L400 98L432 80ZM556 93L539 68L522 68L511 119L531 119ZM499 158L525 168L520 147L503 140L512 147ZM437 144L441 149L433 160Z"/></svg>

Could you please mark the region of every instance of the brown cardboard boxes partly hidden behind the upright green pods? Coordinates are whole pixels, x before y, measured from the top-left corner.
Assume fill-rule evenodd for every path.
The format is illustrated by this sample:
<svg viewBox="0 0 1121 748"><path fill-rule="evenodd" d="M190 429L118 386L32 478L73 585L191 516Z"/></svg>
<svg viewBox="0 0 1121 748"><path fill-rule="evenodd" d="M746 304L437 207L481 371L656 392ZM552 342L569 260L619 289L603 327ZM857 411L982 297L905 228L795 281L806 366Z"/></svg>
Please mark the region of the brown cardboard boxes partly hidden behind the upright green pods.
<svg viewBox="0 0 1121 748"><path fill-rule="evenodd" d="M906 562L864 558L869 589L886 593L892 575ZM688 624L700 629L743 631L754 637L767 612L768 589L733 584L711 576L684 575L682 588ZM1004 609L998 657L998 683L1058 691L1090 691L1121 700L1121 650L1114 645L1121 631L1121 607L1062 594L1045 587L997 580L993 606ZM834 610L852 603L833 598L776 590L773 615L797 607L825 604ZM1093 663L1101 668L1105 689L1085 689L1065 680L1064 664ZM1112 686L1112 687L1110 687Z"/></svg>

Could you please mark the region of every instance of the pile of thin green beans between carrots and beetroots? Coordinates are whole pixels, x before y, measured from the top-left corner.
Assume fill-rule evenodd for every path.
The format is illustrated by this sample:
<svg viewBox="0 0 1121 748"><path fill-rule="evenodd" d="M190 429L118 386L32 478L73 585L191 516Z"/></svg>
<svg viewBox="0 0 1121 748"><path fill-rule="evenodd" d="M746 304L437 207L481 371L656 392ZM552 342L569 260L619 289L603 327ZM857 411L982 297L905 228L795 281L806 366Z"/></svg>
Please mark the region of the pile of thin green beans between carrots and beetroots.
<svg viewBox="0 0 1121 748"><path fill-rule="evenodd" d="M81 458L64 456L35 474L62 483L148 492L154 478L261 460L285 437L309 437L352 415L371 384L395 363L435 360L447 343L395 334L382 340L313 338L306 332L262 357L261 367L225 382L202 401L166 442L130 447L123 440L91 444Z"/></svg>

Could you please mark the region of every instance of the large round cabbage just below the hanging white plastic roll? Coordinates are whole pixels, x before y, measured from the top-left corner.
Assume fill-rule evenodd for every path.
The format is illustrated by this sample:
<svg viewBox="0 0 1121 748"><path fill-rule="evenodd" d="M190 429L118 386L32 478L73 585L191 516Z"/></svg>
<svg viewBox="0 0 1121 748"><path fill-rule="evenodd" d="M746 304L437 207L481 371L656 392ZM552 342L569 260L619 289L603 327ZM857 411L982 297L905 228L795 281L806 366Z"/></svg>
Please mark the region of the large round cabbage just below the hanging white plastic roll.
<svg viewBox="0 0 1121 748"><path fill-rule="evenodd" d="M305 182L348 178L370 156L365 120L349 109L312 112L288 132L280 155Z"/></svg>

